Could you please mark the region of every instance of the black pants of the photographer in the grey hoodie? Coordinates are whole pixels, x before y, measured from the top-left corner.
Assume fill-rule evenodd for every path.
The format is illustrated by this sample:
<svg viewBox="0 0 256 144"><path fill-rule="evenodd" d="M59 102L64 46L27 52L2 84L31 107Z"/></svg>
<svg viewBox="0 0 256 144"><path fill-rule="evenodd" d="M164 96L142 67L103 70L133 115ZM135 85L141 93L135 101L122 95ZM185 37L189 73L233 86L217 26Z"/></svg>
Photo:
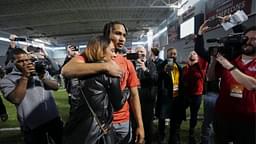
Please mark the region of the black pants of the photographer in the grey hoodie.
<svg viewBox="0 0 256 144"><path fill-rule="evenodd" d="M33 130L25 128L23 132L26 144L48 144L52 140L62 144L63 122L58 117Z"/></svg>

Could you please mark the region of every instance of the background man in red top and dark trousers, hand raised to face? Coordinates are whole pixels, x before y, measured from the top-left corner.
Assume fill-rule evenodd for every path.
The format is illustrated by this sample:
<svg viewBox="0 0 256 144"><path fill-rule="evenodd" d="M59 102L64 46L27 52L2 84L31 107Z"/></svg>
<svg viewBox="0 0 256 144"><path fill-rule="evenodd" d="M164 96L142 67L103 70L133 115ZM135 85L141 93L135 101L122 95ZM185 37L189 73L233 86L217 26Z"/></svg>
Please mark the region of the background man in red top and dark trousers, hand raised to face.
<svg viewBox="0 0 256 144"><path fill-rule="evenodd" d="M190 107L189 144L195 144L194 130L197 124L197 115L202 101L204 79L208 62L203 47L195 44L195 51L190 52L188 63L183 68L185 96Z"/></svg>

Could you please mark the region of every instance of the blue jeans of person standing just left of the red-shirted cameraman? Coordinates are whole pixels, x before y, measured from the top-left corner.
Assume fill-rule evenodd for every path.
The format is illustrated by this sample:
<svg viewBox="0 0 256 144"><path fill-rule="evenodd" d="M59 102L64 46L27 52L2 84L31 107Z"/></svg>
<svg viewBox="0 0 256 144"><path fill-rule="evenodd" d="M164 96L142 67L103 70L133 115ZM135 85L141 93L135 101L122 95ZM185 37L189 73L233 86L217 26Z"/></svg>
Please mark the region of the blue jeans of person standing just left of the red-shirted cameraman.
<svg viewBox="0 0 256 144"><path fill-rule="evenodd" d="M218 98L218 93L208 92L204 96L204 121L202 124L202 144L213 144L213 117L214 117L214 107L216 100Z"/></svg>

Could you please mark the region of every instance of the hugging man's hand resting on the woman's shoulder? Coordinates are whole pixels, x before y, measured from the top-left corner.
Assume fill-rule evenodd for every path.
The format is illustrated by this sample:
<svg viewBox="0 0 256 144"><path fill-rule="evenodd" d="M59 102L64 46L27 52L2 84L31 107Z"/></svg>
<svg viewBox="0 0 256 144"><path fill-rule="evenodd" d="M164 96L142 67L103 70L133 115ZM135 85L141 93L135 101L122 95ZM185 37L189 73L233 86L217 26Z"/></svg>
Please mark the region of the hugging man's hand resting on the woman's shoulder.
<svg viewBox="0 0 256 144"><path fill-rule="evenodd" d="M120 66L113 60L106 63L107 73L111 76L122 77L123 71Z"/></svg>

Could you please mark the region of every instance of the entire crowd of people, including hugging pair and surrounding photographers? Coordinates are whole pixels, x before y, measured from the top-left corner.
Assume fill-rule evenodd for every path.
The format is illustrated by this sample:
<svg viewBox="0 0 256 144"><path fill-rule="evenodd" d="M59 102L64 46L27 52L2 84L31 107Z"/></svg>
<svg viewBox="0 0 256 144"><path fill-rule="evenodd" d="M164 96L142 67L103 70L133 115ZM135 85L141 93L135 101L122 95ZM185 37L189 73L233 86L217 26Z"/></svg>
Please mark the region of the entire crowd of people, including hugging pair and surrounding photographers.
<svg viewBox="0 0 256 144"><path fill-rule="evenodd" d="M234 59L205 48L208 29L205 21L185 65L177 62L176 48L168 48L162 60L158 48L147 51L137 46L136 58L128 59L124 50L128 30L119 21L105 24L102 36L92 38L81 53L68 46L61 68L70 104L65 124L52 95L59 88L52 78L54 65L46 56L41 59L51 67L38 69L28 49L12 46L0 89L16 106L26 144L151 144L154 116L157 142L168 139L169 144L180 144L188 108L189 144L212 143L213 133L217 144L255 144L256 27L244 31L247 39ZM198 141L195 127L202 99L204 119ZM0 111L7 115L2 107ZM168 138L166 119L170 119Z"/></svg>

